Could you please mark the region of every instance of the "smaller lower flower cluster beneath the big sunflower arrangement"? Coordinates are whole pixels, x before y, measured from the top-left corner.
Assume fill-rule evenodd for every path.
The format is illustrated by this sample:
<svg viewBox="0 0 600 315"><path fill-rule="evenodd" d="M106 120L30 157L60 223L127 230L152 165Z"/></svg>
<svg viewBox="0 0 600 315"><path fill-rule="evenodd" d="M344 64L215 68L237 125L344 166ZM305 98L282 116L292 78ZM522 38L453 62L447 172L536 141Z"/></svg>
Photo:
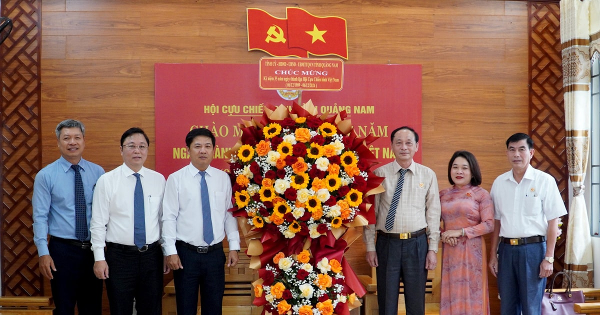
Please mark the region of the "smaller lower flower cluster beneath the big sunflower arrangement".
<svg viewBox="0 0 600 315"><path fill-rule="evenodd" d="M262 283L254 286L256 299L272 314L331 315L356 304L356 293L344 282L336 259L311 259L307 250L298 255L278 253L259 271Z"/></svg>

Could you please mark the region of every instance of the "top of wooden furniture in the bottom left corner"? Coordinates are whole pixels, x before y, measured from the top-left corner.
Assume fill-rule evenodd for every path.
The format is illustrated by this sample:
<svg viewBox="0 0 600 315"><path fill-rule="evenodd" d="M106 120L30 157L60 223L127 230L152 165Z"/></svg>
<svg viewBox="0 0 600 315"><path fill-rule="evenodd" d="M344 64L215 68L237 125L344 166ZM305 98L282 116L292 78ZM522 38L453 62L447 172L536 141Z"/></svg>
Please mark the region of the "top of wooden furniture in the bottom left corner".
<svg viewBox="0 0 600 315"><path fill-rule="evenodd" d="M0 296L0 314L52 315L49 296Z"/></svg>

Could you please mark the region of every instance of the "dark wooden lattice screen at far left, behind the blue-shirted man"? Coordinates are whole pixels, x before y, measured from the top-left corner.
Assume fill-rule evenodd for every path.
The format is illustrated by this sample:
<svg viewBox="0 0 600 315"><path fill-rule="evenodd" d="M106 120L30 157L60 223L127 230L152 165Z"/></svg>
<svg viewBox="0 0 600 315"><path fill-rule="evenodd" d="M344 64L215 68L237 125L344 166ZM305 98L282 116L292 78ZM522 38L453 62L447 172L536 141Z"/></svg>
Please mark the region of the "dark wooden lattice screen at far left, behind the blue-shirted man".
<svg viewBox="0 0 600 315"><path fill-rule="evenodd" d="M41 0L2 0L0 15L13 20L10 37L0 45L2 295L41 295L31 216L41 166Z"/></svg>

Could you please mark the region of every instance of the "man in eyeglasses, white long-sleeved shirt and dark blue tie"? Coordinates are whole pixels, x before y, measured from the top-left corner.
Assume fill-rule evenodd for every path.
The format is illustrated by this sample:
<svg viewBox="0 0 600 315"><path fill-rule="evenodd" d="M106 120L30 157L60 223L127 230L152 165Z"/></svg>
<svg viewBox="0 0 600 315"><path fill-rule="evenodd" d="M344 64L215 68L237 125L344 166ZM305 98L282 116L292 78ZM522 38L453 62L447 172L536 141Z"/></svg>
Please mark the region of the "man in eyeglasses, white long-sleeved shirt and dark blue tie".
<svg viewBox="0 0 600 315"><path fill-rule="evenodd" d="M140 128L121 136L124 163L98 179L92 205L94 274L106 280L111 315L159 315L164 265L159 244L164 176L143 164L150 140ZM106 254L104 249L106 248Z"/></svg>

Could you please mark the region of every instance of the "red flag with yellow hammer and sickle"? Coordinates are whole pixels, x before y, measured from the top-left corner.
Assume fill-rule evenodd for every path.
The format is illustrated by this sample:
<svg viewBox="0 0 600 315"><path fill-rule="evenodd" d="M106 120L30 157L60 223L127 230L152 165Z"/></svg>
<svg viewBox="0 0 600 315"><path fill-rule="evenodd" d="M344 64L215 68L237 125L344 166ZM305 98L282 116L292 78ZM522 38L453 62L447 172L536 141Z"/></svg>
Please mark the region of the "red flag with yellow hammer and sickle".
<svg viewBox="0 0 600 315"><path fill-rule="evenodd" d="M248 51L262 50L275 57L308 57L305 49L289 47L287 20L279 19L264 10L247 8Z"/></svg>

